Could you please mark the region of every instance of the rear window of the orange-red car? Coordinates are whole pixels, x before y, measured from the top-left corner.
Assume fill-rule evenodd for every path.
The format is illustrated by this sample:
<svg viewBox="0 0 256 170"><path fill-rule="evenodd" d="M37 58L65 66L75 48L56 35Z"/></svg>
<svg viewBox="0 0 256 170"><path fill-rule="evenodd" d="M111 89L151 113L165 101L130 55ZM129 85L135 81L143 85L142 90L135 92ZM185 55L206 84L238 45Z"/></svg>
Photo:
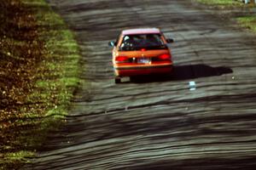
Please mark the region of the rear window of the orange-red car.
<svg viewBox="0 0 256 170"><path fill-rule="evenodd" d="M167 47L162 41L160 34L125 35L119 47L123 51L139 50L142 48L162 49Z"/></svg>

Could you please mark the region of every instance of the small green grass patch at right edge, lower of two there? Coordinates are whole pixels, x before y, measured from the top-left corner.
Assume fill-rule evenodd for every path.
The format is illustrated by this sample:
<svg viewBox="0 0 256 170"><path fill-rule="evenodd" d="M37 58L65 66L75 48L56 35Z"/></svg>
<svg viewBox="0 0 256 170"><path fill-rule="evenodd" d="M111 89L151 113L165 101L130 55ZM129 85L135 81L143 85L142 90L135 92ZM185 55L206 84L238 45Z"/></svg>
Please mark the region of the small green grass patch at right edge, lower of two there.
<svg viewBox="0 0 256 170"><path fill-rule="evenodd" d="M236 19L240 26L256 33L256 16L244 16Z"/></svg>

